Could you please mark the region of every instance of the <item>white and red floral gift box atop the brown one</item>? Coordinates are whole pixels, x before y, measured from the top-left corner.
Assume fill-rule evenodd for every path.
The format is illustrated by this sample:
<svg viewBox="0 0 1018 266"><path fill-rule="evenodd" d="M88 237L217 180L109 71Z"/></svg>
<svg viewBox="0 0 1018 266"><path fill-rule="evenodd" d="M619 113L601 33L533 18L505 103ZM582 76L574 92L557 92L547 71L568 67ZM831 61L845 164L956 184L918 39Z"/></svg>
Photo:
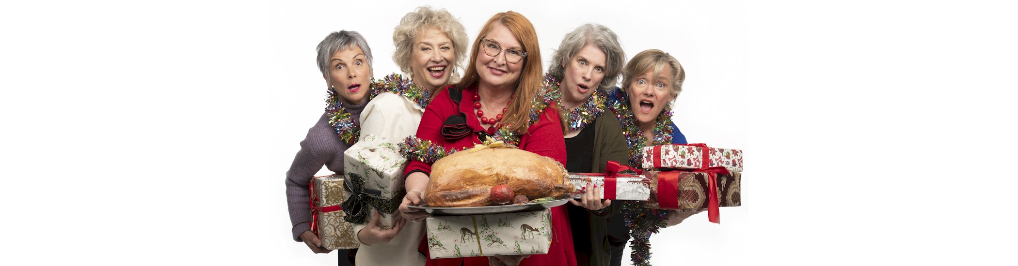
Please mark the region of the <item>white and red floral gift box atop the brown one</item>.
<svg viewBox="0 0 1018 266"><path fill-rule="evenodd" d="M703 161L704 149L708 161ZM643 147L643 169L700 169L724 167L730 172L742 172L742 150L715 148L705 145L667 144Z"/></svg>

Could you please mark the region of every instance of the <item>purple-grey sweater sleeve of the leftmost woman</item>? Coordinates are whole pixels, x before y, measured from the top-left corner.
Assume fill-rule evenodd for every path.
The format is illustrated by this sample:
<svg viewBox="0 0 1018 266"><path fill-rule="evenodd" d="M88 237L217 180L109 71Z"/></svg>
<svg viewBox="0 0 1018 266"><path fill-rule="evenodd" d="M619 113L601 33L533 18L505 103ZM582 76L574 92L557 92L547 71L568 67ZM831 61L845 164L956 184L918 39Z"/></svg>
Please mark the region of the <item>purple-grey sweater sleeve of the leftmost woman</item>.
<svg viewBox="0 0 1018 266"><path fill-rule="evenodd" d="M309 138L309 137L308 137ZM300 151L293 157L290 170L286 172L286 205L290 212L290 223L293 227L293 240L300 242L300 234L309 230L312 220L310 183L315 174L325 165L325 162L315 156L308 146L308 139L300 142Z"/></svg>

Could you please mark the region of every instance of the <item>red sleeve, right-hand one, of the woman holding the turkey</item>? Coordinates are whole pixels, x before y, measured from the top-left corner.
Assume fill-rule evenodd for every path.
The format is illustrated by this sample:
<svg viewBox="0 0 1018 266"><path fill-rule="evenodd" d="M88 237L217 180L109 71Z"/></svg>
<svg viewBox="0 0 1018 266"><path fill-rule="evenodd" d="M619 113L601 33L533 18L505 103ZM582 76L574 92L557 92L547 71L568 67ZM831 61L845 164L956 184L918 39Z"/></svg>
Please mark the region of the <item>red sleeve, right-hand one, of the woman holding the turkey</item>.
<svg viewBox="0 0 1018 266"><path fill-rule="evenodd" d="M525 143L521 149L548 156L566 164L566 141L562 133L562 120L555 107L547 107L541 113L541 120L527 128ZM523 140L521 140L523 141Z"/></svg>

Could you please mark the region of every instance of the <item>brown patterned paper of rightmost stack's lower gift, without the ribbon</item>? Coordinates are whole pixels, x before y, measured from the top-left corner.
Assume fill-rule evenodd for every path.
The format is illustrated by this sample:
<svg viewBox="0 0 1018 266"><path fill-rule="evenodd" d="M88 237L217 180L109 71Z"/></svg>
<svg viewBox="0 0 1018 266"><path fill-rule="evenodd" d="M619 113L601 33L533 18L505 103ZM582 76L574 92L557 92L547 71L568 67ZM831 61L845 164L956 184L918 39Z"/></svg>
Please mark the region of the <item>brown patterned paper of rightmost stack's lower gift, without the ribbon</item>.
<svg viewBox="0 0 1018 266"><path fill-rule="evenodd" d="M708 184L708 179L710 175L706 173L696 173L696 172L681 172L672 173L670 175L678 176L677 186L675 188L665 188L662 186L662 182L659 180L659 174L662 172L647 171L644 174L648 175L652 184L651 197L646 202L643 203L644 207L647 208L661 208L659 200L659 191L664 189L670 189L677 194L678 198L673 199L678 202L678 209L706 209L708 208L708 197L710 192L710 185ZM734 207L742 205L742 194L740 193L740 180L742 178L742 173L731 173L731 175L717 175L715 182L717 182L717 192L718 192L718 203L719 207Z"/></svg>

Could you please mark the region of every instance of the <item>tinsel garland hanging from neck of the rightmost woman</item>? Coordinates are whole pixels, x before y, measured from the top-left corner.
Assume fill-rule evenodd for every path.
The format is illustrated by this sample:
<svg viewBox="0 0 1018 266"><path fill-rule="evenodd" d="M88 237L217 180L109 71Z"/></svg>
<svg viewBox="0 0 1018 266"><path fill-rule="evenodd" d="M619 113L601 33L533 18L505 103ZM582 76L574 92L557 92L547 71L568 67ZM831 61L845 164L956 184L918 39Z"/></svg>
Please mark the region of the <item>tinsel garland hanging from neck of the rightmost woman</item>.
<svg viewBox="0 0 1018 266"><path fill-rule="evenodd" d="M642 159L641 152L646 145L646 137L639 130L636 118L633 117L632 108L629 105L629 96L625 91L618 89L615 94L615 102L609 105L609 109L615 112L622 123L622 134L626 137L626 144L629 145L629 163L639 165ZM655 120L653 145L664 145L672 143L672 112L671 108L665 107ZM665 226L665 218L668 217L669 210L643 208L642 202L623 201L622 215L625 218L626 226L629 228L629 236L632 242L629 248L632 254L629 258L633 265L651 265L651 235L657 234L661 227Z"/></svg>

